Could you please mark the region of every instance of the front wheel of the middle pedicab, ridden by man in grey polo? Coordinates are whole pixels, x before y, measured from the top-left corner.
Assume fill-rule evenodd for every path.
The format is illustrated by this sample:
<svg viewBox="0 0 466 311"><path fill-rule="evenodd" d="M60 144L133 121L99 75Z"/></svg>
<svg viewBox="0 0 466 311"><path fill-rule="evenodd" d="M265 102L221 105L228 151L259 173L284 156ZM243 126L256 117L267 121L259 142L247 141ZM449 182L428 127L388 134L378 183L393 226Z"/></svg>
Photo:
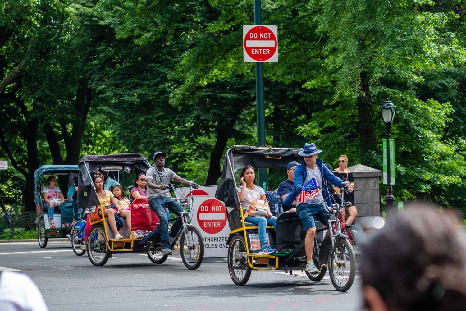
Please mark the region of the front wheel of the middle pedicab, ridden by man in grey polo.
<svg viewBox="0 0 466 311"><path fill-rule="evenodd" d="M179 252L181 259L189 270L196 270L204 259L204 240L199 229L194 226L187 226L187 232L181 232L179 239Z"/></svg>

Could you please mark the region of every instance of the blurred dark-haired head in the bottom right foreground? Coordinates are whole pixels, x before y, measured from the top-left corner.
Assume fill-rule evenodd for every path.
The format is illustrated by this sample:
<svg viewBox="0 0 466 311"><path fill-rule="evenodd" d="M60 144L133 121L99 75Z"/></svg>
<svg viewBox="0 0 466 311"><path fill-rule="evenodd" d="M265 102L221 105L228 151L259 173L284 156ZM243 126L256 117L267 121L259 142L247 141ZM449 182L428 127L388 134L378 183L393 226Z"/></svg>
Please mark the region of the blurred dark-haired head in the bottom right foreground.
<svg viewBox="0 0 466 311"><path fill-rule="evenodd" d="M466 235L453 213L413 207L363 246L370 311L466 310Z"/></svg>

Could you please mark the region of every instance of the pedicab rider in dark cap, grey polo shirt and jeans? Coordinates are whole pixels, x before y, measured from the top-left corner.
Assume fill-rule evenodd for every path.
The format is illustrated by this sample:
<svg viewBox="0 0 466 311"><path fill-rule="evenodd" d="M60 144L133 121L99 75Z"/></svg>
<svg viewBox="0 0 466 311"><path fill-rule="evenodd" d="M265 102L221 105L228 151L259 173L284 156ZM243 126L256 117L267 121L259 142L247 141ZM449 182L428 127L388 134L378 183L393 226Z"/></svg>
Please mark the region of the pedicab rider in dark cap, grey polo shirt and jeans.
<svg viewBox="0 0 466 311"><path fill-rule="evenodd" d="M158 218L160 218L159 230L160 240L162 240L162 254L169 255L171 254L170 242L178 233L179 228L181 228L181 220L175 221L171 227L170 235L168 232L168 219L165 213L165 205L167 205L168 209L175 215L180 215L183 211L183 207L181 207L177 200L171 198L167 185L171 180L178 181L185 186L192 185L194 188L197 188L197 185L192 181L179 177L171 169L164 167L166 156L167 154L165 152L158 151L154 153L152 157L154 166L147 170L146 182L149 206L158 215Z"/></svg>

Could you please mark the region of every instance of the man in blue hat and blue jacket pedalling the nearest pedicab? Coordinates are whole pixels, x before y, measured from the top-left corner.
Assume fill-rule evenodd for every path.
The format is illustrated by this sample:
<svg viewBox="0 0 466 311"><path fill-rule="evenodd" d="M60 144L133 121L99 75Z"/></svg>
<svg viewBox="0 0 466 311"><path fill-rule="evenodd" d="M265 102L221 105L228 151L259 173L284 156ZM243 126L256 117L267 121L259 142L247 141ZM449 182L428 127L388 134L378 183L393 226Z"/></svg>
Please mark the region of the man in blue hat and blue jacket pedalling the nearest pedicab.
<svg viewBox="0 0 466 311"><path fill-rule="evenodd" d="M314 251L314 237L315 237L315 219L317 218L322 222L323 225L329 225L330 215L324 209L323 204L328 206L332 205L330 200L327 183L324 181L328 180L330 183L337 187L346 187L347 184L344 180L336 177L327 166L322 164L322 160L319 158L319 150L315 147L314 143L305 144L304 148L298 154L304 157L304 160L295 167L293 176L293 182L295 187L293 191L283 200L283 205L291 206L293 200L296 200L296 196L301 193L304 185L308 183L313 177L317 180L317 185L321 191L319 195L311 198L306 198L304 202L296 201L296 213L301 219L301 222L306 230L306 239L304 240L304 247L306 249L306 257L308 264L306 265L306 271L309 273L317 273L319 270L312 261L312 255Z"/></svg>

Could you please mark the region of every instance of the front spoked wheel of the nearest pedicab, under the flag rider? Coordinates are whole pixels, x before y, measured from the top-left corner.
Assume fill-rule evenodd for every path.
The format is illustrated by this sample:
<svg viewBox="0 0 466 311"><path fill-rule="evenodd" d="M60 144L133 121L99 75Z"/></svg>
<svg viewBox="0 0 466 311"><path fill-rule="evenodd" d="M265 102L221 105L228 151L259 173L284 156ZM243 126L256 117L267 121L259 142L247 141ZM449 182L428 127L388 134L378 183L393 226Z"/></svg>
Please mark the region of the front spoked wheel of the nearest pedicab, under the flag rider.
<svg viewBox="0 0 466 311"><path fill-rule="evenodd" d="M347 239L339 239L329 254L330 280L336 290L347 291L356 276L356 257Z"/></svg>

